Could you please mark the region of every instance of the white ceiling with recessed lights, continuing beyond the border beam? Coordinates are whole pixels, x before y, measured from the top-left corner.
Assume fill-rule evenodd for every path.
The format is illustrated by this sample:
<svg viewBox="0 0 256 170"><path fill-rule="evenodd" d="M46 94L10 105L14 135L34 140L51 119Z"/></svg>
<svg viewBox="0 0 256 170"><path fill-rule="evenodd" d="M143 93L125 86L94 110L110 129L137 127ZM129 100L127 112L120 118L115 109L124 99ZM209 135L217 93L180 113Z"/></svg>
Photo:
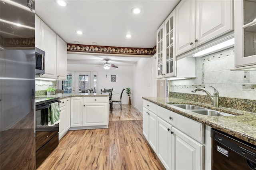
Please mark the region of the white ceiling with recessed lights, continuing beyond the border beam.
<svg viewBox="0 0 256 170"><path fill-rule="evenodd" d="M83 45L144 47L156 45L156 30L180 0L67 0L61 7L55 0L36 0L36 14L66 43ZM134 7L141 14L132 14ZM76 34L76 30L84 32ZM125 37L131 34L132 38ZM133 65L134 57L68 54L68 63ZM116 61L115 61L116 60ZM96 62L98 61L98 62ZM113 61L113 62L111 62ZM104 60L102 61L104 63Z"/></svg>

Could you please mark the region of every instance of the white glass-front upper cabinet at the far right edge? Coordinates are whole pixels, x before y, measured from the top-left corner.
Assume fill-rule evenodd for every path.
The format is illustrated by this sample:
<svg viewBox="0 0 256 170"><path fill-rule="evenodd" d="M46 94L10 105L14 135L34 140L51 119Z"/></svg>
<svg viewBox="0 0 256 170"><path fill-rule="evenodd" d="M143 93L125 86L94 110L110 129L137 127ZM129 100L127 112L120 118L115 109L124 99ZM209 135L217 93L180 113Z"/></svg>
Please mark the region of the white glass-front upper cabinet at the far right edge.
<svg viewBox="0 0 256 170"><path fill-rule="evenodd" d="M256 0L235 0L235 66L256 65Z"/></svg>

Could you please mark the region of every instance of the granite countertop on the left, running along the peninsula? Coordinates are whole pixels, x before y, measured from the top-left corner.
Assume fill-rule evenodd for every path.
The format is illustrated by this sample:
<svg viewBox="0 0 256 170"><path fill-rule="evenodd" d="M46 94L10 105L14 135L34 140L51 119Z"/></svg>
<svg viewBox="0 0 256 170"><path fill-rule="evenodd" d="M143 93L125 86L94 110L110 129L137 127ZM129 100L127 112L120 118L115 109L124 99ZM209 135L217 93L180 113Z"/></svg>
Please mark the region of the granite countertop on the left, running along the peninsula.
<svg viewBox="0 0 256 170"><path fill-rule="evenodd" d="M60 97L60 99L68 98L68 97L92 97L92 96L109 96L108 93L100 94L100 93L58 93L55 95L40 95L36 97Z"/></svg>

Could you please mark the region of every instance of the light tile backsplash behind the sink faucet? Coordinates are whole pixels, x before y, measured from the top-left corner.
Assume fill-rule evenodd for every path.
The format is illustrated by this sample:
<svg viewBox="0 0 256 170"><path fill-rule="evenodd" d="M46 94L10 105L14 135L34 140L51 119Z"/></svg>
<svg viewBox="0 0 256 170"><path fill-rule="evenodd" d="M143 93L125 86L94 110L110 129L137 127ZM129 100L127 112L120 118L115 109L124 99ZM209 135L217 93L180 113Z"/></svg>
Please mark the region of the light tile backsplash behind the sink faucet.
<svg viewBox="0 0 256 170"><path fill-rule="evenodd" d="M169 91L205 95L202 87L211 94L213 86L220 97L256 100L256 71L230 71L234 68L234 47L196 58L196 78L169 81ZM184 68L186 69L186 68Z"/></svg>

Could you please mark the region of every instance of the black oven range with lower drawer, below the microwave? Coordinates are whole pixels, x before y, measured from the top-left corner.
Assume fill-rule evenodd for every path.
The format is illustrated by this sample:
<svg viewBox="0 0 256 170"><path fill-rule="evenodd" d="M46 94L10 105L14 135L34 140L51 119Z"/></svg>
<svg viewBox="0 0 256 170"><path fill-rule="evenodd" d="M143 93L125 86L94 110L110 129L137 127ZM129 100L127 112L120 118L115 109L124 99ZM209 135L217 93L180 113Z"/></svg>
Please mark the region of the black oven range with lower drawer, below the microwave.
<svg viewBox="0 0 256 170"><path fill-rule="evenodd" d="M60 103L59 97L36 97L36 168L44 162L59 144L59 124L48 125L51 103Z"/></svg>

